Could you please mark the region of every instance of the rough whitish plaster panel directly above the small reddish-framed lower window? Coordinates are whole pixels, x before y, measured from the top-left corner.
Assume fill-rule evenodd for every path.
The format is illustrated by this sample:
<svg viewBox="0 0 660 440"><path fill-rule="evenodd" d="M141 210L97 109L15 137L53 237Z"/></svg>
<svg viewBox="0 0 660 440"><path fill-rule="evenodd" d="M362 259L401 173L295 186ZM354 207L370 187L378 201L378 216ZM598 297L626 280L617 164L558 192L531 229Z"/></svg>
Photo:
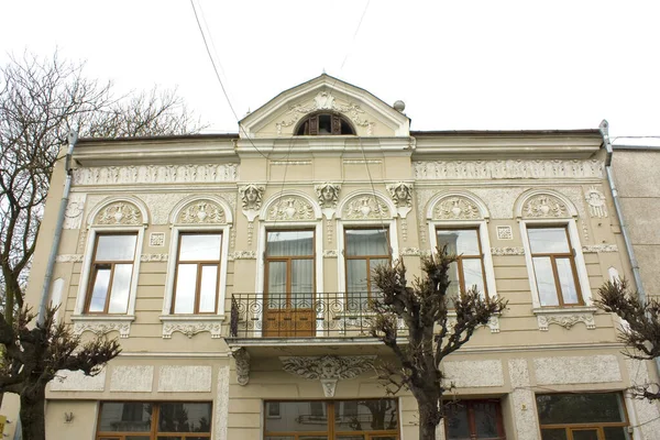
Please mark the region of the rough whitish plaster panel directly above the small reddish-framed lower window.
<svg viewBox="0 0 660 440"><path fill-rule="evenodd" d="M498 360L454 361L443 365L446 381L452 382L457 388L504 385L502 362Z"/></svg>

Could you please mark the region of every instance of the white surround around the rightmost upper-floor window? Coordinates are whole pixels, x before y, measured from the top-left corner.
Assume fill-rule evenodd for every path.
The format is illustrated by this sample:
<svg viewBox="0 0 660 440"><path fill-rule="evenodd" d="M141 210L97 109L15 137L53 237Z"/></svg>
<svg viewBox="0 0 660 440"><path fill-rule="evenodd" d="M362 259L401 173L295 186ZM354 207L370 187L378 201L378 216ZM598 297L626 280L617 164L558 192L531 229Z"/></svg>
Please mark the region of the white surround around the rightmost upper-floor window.
<svg viewBox="0 0 660 440"><path fill-rule="evenodd" d="M525 262L527 265L527 276L529 278L529 289L531 292L531 302L535 312L551 312L553 310L561 311L582 311L584 309L593 310L592 292L588 284L588 274L586 272L586 263L584 261L584 254L582 253L582 245L580 243L580 232L578 231L578 223L575 219L521 219L520 221L520 237L522 238L522 246L525 249ZM575 260L575 272L578 275L578 283L580 284L580 293L584 306L550 306L541 307L541 300L539 297L539 290L537 286L536 273L534 270L534 261L531 257L531 246L529 244L529 237L527 235L528 226L543 226L548 228L566 228L569 232L569 239L571 240L571 248Z"/></svg>

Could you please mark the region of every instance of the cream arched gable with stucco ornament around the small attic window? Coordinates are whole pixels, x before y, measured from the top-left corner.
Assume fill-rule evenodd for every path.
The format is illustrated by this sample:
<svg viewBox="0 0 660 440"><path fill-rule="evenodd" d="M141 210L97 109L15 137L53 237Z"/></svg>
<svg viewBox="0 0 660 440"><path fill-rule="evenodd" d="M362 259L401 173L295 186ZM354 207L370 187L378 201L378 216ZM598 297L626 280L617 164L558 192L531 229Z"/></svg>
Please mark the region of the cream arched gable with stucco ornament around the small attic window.
<svg viewBox="0 0 660 440"><path fill-rule="evenodd" d="M241 122L240 136L288 138L315 112L345 117L360 136L408 136L410 120L369 91L322 74L271 99Z"/></svg>

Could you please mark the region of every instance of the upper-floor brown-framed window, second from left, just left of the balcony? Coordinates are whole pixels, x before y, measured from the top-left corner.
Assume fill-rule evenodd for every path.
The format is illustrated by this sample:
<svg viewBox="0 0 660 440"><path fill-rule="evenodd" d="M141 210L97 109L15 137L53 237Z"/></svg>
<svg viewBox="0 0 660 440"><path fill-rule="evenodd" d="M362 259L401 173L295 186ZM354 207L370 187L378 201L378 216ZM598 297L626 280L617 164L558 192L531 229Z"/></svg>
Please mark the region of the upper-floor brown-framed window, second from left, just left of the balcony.
<svg viewBox="0 0 660 440"><path fill-rule="evenodd" d="M220 288L222 234L180 233L173 314L216 314Z"/></svg>

